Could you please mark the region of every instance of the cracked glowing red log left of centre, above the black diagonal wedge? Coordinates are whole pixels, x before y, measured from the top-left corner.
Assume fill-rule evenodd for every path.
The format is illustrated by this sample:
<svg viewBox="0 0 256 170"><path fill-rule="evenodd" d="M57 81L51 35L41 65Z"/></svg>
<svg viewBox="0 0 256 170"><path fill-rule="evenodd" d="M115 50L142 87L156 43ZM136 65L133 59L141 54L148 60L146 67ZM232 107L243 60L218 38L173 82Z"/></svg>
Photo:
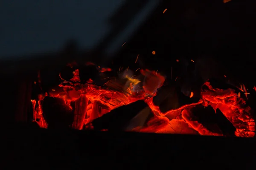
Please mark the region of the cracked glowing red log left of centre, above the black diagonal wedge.
<svg viewBox="0 0 256 170"><path fill-rule="evenodd" d="M74 77L75 74L76 76L79 76L78 73L74 73ZM73 128L75 129L82 129L83 124L90 124L90 122L92 122L94 119L99 118L103 116L105 113L108 113L111 110L119 108L122 105L128 105L138 100L145 99L146 95L145 92L132 94L124 93L121 90L122 84L118 83L118 81L110 83L109 85L107 84L105 87L100 87L90 83L82 84L79 82L79 77L77 77L76 79L73 78L72 80L73 81L69 82L64 81L63 83L61 83L60 87L66 89L67 94L69 94L70 91L79 92L81 96L83 95L83 97L86 97L88 101L91 103L90 109L87 109L84 106L76 104L75 120L73 124ZM121 88L117 88L119 90L116 90L114 88L116 86L119 86ZM70 97L71 95L68 96ZM75 103L79 103L80 98L75 99Z"/></svg>

